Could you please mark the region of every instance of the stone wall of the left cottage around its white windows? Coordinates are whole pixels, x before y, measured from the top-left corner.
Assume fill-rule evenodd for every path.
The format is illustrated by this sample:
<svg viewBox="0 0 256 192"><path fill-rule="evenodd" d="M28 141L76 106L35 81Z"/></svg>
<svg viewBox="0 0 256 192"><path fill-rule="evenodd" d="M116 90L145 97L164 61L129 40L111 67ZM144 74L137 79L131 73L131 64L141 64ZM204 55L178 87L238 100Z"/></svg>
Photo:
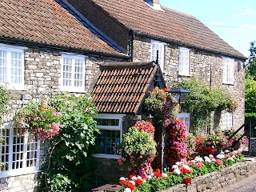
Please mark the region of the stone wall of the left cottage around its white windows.
<svg viewBox="0 0 256 192"><path fill-rule="evenodd" d="M31 100L37 101L60 91L61 52L50 50L25 50L25 86L24 90L11 90L12 107L15 111ZM86 58L86 87L90 91L99 74L99 65L103 62L114 62L113 59L88 57ZM120 61L119 61L120 62ZM13 117L13 114L10 114ZM41 142L41 159L46 156L46 143ZM15 177L1 178L0 190L4 192L34 191L36 186L35 174L23 174Z"/></svg>

